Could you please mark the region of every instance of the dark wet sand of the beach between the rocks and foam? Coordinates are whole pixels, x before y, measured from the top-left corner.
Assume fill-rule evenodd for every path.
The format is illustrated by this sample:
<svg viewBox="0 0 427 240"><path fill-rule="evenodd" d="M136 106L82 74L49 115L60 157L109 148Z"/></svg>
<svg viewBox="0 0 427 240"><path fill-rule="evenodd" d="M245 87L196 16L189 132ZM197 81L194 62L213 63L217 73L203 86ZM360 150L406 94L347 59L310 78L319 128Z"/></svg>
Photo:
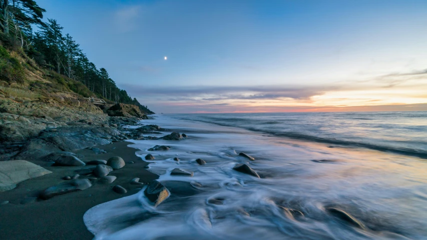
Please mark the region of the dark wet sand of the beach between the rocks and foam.
<svg viewBox="0 0 427 240"><path fill-rule="evenodd" d="M41 190L65 182L62 177L73 175L74 170L82 168L79 166L44 166L46 162L33 161L53 173L28 179L19 183L15 189L0 192L0 202L10 201L8 204L0 205L2 218L0 239L92 239L93 234L87 230L83 222L83 215L89 208L137 193L141 185L130 184L131 179L135 177L139 177L140 182L158 178L158 175L144 168L148 163L136 156L137 149L128 147L129 144L132 143L122 141L97 146L107 151L107 153L101 154L96 154L89 149L74 151L83 155L84 157L81 159L84 161L107 160L111 156L121 156L126 165L109 174L117 176L114 182L99 184L93 181L92 187L86 190L22 204L24 199L29 201L34 199L31 197L36 197ZM129 163L130 161L135 163ZM128 192L125 194L114 192L111 188L116 184L125 187Z"/></svg>

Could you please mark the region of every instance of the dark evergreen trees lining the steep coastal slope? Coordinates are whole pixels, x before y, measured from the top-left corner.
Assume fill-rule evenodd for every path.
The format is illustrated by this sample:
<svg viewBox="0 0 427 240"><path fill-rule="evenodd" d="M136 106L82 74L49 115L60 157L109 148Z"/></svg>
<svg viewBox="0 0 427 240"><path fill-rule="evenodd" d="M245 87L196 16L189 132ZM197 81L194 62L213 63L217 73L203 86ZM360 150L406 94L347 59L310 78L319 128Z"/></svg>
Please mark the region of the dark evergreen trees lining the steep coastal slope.
<svg viewBox="0 0 427 240"><path fill-rule="evenodd" d="M34 0L0 0L0 41L11 50L23 50L39 66L54 70L83 83L90 92L73 89L85 97L96 96L112 102L134 104L146 113L147 106L117 87L103 67L91 62L70 34L64 34L57 20L43 21L43 12ZM38 28L37 31L33 27ZM23 81L13 58L0 60L0 77L7 81ZM9 68L8 68L9 67ZM8 71L8 72L6 72Z"/></svg>

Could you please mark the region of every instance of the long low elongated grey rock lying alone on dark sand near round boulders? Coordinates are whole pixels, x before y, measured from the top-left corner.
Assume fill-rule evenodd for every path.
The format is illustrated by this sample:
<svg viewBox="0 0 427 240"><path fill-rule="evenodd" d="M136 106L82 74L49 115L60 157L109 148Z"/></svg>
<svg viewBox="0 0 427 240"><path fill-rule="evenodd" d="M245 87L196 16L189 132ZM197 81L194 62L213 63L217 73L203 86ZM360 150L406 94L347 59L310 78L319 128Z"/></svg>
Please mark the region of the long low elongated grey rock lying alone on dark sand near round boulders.
<svg viewBox="0 0 427 240"><path fill-rule="evenodd" d="M88 179L74 179L55 186L46 188L41 194L40 198L49 199L56 195L61 195L73 191L84 190L92 186Z"/></svg>

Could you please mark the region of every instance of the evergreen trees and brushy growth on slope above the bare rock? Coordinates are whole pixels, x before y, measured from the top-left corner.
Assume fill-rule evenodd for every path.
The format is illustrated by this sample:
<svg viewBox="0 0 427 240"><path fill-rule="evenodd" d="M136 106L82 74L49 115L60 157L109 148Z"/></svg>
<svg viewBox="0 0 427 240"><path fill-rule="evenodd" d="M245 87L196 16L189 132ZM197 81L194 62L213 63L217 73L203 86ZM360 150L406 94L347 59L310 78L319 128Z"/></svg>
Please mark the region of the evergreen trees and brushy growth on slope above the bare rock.
<svg viewBox="0 0 427 240"><path fill-rule="evenodd" d="M50 82L51 88L154 113L117 87L105 68L97 68L73 37L63 34L55 19L43 22L45 11L34 0L0 0L0 80L29 87Z"/></svg>

